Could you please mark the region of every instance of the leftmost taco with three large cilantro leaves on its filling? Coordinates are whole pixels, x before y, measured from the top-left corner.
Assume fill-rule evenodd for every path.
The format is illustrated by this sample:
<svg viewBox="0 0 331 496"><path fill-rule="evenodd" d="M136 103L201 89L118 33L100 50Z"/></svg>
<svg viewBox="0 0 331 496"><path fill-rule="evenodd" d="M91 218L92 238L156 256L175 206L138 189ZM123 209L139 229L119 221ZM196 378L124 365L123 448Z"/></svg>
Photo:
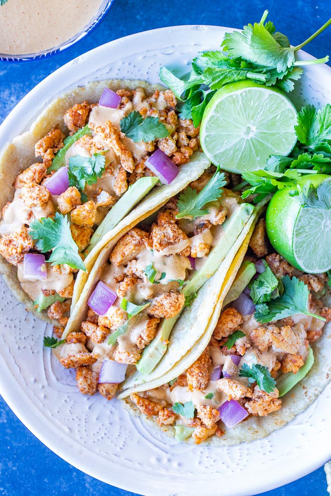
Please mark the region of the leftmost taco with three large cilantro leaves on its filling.
<svg viewBox="0 0 331 496"><path fill-rule="evenodd" d="M209 165L199 128L178 119L172 91L130 80L70 90L0 156L7 285L63 329L104 244Z"/></svg>

